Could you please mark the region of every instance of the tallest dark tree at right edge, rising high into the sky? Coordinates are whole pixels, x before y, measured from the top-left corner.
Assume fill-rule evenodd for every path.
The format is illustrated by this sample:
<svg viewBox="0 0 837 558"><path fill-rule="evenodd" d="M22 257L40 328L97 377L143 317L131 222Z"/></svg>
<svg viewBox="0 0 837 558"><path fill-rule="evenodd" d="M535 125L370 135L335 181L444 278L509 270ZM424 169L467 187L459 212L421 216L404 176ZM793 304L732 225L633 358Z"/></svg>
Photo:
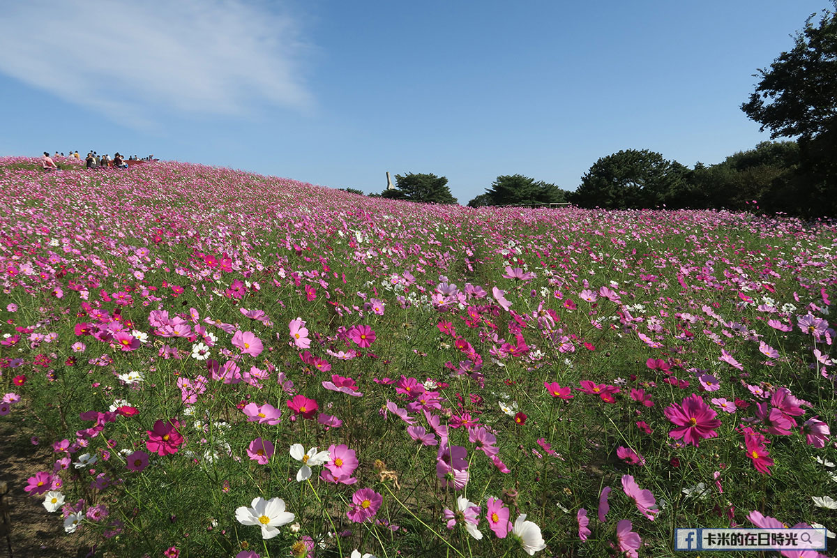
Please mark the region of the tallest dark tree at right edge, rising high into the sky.
<svg viewBox="0 0 837 558"><path fill-rule="evenodd" d="M837 0L834 0L837 8ZM812 14L794 38L793 49L779 54L742 105L749 118L769 130L772 139L798 136L799 167L784 185L802 216L837 212L837 9Z"/></svg>

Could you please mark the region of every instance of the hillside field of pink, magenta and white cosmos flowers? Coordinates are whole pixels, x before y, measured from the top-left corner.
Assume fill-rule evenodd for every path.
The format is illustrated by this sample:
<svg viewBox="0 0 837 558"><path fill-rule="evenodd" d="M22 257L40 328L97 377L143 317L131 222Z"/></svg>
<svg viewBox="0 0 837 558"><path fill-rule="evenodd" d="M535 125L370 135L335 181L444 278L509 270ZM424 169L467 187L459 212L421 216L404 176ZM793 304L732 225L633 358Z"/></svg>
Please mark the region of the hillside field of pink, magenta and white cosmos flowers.
<svg viewBox="0 0 837 558"><path fill-rule="evenodd" d="M834 225L33 162L0 159L0 422L49 448L13 490L90 555L837 529Z"/></svg>

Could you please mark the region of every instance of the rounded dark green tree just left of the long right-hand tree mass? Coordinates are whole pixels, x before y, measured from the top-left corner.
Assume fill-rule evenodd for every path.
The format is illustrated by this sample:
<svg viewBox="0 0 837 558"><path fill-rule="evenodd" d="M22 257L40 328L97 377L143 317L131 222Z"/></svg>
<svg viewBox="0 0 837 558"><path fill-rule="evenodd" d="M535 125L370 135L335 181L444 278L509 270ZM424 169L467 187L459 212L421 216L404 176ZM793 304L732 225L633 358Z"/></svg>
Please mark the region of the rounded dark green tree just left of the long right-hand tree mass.
<svg viewBox="0 0 837 558"><path fill-rule="evenodd" d="M581 207L614 209L658 207L669 202L680 207L690 172L654 151L619 151L593 163L569 201Z"/></svg>

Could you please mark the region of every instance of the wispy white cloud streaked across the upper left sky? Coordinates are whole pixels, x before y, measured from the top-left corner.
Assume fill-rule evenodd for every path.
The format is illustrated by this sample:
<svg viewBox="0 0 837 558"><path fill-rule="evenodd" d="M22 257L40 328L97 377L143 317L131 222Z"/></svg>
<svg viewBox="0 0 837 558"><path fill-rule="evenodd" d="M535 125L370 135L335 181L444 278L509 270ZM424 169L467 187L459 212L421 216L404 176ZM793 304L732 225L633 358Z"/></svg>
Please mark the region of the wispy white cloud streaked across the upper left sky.
<svg viewBox="0 0 837 558"><path fill-rule="evenodd" d="M0 17L0 72L123 123L306 110L299 25L241 0L27 0Z"/></svg>

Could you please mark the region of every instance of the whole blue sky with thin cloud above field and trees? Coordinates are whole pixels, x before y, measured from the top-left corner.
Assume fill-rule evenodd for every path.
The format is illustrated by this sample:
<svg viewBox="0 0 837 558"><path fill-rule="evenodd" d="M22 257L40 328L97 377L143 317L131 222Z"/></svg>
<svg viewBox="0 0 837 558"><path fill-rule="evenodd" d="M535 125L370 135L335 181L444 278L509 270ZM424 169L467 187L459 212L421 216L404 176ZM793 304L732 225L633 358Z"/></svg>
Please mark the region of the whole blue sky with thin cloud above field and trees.
<svg viewBox="0 0 837 558"><path fill-rule="evenodd" d="M740 110L827 0L32 0L0 18L0 155L77 149L380 192L433 172L573 190L650 149L769 139ZM173 6L173 7L172 7Z"/></svg>

